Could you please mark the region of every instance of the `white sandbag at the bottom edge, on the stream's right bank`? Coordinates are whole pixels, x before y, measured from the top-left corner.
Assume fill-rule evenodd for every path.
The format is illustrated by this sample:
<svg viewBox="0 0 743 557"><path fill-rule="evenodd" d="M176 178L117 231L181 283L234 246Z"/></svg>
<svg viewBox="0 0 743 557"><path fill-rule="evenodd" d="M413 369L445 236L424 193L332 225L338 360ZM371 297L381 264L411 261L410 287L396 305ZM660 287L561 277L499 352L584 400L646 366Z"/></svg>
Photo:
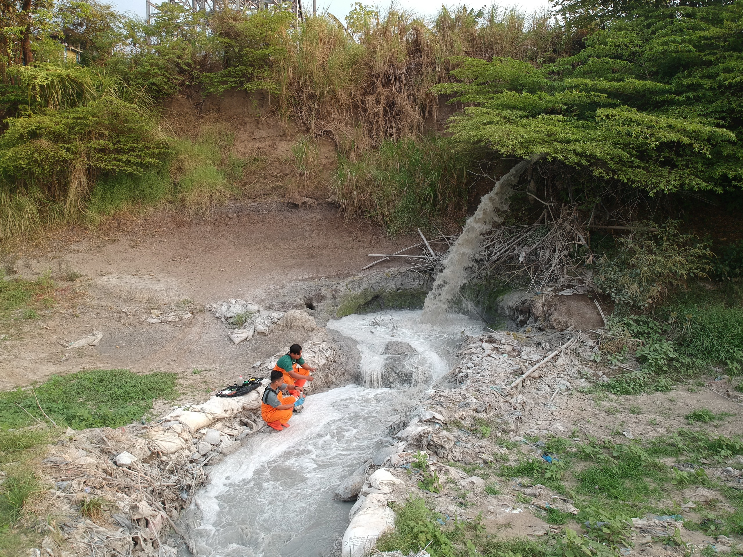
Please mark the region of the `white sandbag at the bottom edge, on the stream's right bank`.
<svg viewBox="0 0 743 557"><path fill-rule="evenodd" d="M377 539L395 528L395 511L387 506L384 495L372 493L361 504L351 524L343 532L341 557L362 557Z"/></svg>

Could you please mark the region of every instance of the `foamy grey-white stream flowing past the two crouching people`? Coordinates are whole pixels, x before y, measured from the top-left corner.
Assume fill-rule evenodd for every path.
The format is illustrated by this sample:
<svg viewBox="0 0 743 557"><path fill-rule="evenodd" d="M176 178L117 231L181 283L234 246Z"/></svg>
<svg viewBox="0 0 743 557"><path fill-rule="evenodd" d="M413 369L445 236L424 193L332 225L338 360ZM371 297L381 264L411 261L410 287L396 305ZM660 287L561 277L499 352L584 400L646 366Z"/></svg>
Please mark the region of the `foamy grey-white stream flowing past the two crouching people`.
<svg viewBox="0 0 743 557"><path fill-rule="evenodd" d="M214 466L210 484L195 498L201 511L191 530L198 557L320 557L331 552L351 503L333 498L346 476L390 444L386 424L415 405L418 388L380 388L390 341L415 354L409 364L428 382L450 370L461 335L480 322L450 314L441 325L421 323L420 311L351 315L328 322L355 339L365 385L345 385L307 397L281 433L251 436L238 452ZM407 367L407 365L406 365ZM389 366L388 366L389 368ZM406 371L406 370L401 370Z"/></svg>

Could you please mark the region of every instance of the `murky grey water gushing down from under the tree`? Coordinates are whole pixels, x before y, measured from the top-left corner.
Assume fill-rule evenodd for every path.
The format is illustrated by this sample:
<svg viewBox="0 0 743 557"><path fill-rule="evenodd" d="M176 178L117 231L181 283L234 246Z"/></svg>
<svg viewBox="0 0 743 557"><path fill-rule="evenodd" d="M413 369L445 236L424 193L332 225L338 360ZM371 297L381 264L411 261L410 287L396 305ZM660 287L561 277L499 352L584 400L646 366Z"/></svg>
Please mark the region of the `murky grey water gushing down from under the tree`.
<svg viewBox="0 0 743 557"><path fill-rule="evenodd" d="M522 160L482 197L475 214L467 219L464 230L444 258L444 268L438 273L433 288L426 296L422 318L424 323L434 324L443 321L451 300L467 282L467 270L472 264L473 255L480 247L482 235L492 228L493 224L500 224L503 221L504 212L508 210L511 186L529 166L544 156L544 153L539 153L530 160Z"/></svg>

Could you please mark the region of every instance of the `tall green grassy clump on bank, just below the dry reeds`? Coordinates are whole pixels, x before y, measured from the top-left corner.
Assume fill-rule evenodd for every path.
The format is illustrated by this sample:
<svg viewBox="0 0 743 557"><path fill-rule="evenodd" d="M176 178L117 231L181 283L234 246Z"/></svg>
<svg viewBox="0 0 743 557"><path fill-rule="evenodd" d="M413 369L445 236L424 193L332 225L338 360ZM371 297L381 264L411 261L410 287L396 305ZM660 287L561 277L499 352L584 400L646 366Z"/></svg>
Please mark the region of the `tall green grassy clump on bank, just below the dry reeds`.
<svg viewBox="0 0 743 557"><path fill-rule="evenodd" d="M467 160L446 139L384 141L340 157L333 191L346 217L371 218L389 234L456 221L467 209Z"/></svg>

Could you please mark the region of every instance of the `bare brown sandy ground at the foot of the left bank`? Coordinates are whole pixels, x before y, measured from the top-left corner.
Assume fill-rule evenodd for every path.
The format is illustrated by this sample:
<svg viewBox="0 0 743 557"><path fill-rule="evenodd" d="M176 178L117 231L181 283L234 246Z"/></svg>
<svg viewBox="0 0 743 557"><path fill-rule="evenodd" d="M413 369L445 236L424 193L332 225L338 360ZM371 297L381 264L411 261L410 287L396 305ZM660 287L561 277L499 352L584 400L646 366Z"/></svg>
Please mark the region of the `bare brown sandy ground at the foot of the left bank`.
<svg viewBox="0 0 743 557"><path fill-rule="evenodd" d="M7 335L0 342L0 388L86 368L129 368L176 371L186 391L210 392L303 339L273 335L235 346L226 325L204 313L204 304L242 298L273 309L272 297L288 285L378 273L394 262L362 271L373 261L368 253L393 253L412 243L386 238L369 224L345 223L322 203L316 209L249 203L202 223L152 214L112 232L68 231L5 262L23 278L51 272L59 288L58 303L39 310L40 319L0 322L0 333ZM80 277L65 281L71 272ZM158 309L193 317L146 322ZM100 345L62 345L92 330L103 333ZM194 370L201 370L198 377Z"/></svg>

